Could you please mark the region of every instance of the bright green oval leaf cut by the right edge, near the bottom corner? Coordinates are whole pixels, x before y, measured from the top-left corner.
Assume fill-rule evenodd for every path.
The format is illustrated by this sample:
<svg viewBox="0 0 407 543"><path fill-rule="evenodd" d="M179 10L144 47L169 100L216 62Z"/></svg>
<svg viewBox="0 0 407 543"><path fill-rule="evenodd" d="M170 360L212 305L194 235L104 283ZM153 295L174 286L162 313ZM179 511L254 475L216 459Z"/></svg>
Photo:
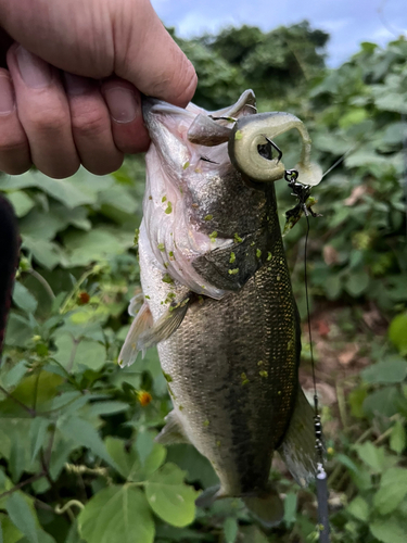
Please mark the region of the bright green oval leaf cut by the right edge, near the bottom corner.
<svg viewBox="0 0 407 543"><path fill-rule="evenodd" d="M407 494L407 469L390 468L382 476L373 505L380 515L394 510Z"/></svg>

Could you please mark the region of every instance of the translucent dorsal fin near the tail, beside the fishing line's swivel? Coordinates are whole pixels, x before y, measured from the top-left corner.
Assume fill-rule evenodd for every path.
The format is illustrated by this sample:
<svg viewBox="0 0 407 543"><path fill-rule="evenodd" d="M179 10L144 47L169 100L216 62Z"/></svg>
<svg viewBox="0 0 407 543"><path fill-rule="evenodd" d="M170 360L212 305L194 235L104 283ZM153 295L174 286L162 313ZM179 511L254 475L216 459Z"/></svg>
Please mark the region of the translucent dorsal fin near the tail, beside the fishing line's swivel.
<svg viewBox="0 0 407 543"><path fill-rule="evenodd" d="M277 451L301 487L306 487L317 473L314 416L300 387L290 426Z"/></svg>

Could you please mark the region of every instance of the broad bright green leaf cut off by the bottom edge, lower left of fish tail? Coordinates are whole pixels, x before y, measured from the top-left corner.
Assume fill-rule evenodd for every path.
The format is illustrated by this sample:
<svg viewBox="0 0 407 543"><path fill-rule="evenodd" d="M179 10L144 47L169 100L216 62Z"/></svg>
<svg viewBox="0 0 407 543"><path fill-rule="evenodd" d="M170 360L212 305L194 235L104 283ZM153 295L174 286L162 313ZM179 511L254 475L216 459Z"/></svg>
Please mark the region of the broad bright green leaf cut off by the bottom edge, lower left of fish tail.
<svg viewBox="0 0 407 543"><path fill-rule="evenodd" d="M78 525L87 543L154 541L154 521L145 496L127 484L98 492L80 512Z"/></svg>

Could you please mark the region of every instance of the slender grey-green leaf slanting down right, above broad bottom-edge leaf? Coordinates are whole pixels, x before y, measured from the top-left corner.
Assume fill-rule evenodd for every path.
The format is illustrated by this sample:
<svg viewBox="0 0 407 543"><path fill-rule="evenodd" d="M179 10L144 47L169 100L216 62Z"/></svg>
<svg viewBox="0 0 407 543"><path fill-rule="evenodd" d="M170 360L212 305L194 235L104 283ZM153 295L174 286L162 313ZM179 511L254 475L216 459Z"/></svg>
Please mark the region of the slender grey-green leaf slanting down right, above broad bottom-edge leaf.
<svg viewBox="0 0 407 543"><path fill-rule="evenodd" d="M107 453L106 447L93 426L79 417L72 416L59 422L61 432L68 439L73 439L79 445L86 446L97 456L119 471L118 466Z"/></svg>

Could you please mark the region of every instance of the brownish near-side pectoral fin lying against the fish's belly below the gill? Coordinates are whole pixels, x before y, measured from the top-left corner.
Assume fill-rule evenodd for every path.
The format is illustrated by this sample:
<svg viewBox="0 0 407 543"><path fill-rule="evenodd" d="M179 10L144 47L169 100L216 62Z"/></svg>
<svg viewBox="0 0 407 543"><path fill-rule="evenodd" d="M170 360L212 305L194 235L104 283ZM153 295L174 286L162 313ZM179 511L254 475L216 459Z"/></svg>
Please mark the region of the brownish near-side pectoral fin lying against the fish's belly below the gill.
<svg viewBox="0 0 407 543"><path fill-rule="evenodd" d="M187 314L189 302L189 296L178 303L173 302L164 315L151 328L142 332L139 338L139 349L149 349L173 336Z"/></svg>

